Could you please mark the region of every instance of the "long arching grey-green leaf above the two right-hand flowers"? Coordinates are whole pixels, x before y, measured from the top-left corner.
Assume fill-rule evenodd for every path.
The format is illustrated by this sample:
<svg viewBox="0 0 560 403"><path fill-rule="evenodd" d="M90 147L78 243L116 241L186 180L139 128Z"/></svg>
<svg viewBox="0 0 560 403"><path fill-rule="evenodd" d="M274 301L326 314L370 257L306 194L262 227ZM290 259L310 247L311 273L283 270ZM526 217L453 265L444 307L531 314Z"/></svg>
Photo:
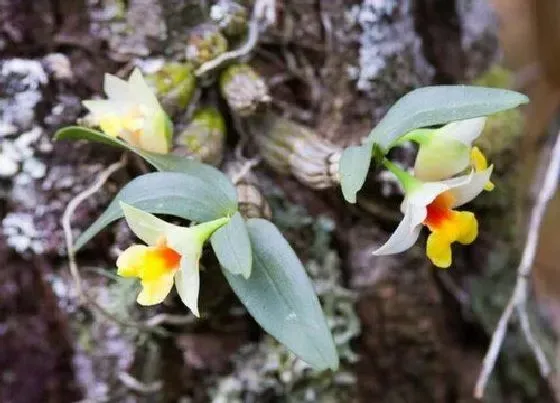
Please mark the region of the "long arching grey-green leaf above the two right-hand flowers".
<svg viewBox="0 0 560 403"><path fill-rule="evenodd" d="M529 102L519 92L466 85L424 87L409 92L389 109L368 136L388 150L402 135L420 127L487 116Z"/></svg>

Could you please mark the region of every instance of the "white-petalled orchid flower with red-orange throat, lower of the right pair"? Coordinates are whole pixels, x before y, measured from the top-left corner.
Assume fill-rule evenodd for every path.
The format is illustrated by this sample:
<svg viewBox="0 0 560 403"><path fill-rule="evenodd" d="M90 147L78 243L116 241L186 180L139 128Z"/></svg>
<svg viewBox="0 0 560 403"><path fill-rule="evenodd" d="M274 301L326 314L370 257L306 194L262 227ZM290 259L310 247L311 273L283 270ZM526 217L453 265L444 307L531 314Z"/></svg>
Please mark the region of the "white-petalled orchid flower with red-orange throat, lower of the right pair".
<svg viewBox="0 0 560 403"><path fill-rule="evenodd" d="M386 161L385 166L405 190L401 204L404 218L389 240L374 255L389 255L409 249L423 226L431 234L426 255L432 263L447 268L452 262L451 245L472 243L478 235L478 222L469 211L456 211L482 192L492 174L492 166L440 182L423 182Z"/></svg>

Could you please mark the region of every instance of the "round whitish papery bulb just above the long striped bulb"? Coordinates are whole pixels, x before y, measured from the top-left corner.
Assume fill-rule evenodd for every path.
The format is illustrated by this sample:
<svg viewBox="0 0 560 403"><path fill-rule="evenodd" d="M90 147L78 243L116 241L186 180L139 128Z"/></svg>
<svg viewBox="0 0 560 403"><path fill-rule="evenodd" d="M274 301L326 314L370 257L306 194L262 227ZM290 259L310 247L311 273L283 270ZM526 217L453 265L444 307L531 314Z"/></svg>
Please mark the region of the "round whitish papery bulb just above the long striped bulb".
<svg viewBox="0 0 560 403"><path fill-rule="evenodd" d="M261 76L247 64L232 64L222 72L220 89L231 110L241 117L255 113L268 102L268 89Z"/></svg>

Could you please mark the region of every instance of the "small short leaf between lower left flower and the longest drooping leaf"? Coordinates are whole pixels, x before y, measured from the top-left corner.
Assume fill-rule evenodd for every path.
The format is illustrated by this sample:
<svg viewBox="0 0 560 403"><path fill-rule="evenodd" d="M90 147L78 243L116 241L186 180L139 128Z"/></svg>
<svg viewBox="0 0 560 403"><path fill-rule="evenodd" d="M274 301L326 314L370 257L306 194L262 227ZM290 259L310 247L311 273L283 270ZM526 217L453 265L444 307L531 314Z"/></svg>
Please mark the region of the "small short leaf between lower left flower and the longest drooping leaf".
<svg viewBox="0 0 560 403"><path fill-rule="evenodd" d="M212 234L212 248L223 268L245 278L251 275L251 243L245 221L239 212Z"/></svg>

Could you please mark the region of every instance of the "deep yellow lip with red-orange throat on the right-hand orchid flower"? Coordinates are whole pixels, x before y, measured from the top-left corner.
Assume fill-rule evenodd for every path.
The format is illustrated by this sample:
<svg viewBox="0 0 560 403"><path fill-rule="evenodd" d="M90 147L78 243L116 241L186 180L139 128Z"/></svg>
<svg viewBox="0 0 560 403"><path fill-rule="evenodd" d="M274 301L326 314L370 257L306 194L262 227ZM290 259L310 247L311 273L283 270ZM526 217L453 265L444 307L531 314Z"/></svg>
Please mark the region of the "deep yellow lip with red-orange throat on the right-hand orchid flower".
<svg viewBox="0 0 560 403"><path fill-rule="evenodd" d="M426 255L434 265L441 268L451 266L453 242L468 245L478 235L478 222L474 214L453 210L453 201L450 192L443 192L426 206L424 225L432 232L428 236Z"/></svg>

